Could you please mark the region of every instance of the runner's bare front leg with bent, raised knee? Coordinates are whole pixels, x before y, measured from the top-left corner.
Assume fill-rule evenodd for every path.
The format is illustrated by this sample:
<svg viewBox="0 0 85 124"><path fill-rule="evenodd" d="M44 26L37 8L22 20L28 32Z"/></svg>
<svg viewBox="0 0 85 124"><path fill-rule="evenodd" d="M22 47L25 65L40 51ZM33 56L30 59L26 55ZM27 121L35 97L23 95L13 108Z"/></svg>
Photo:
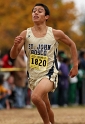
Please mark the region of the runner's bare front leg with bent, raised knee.
<svg viewBox="0 0 85 124"><path fill-rule="evenodd" d="M50 112L48 114L48 109L43 98L52 89L53 83L48 79L42 79L31 95L32 102L36 105L44 124L50 124L49 115L51 116L52 114Z"/></svg>

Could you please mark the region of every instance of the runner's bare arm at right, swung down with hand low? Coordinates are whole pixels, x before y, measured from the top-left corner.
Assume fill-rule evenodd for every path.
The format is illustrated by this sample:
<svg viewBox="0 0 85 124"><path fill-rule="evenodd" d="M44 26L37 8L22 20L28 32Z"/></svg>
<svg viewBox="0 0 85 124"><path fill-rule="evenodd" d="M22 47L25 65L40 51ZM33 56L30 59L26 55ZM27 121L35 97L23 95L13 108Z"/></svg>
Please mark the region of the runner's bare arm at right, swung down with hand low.
<svg viewBox="0 0 85 124"><path fill-rule="evenodd" d="M63 31L53 30L53 33L56 40L60 40L69 46L73 62L73 68L71 69L69 75L71 77L76 76L78 73L78 55L75 43L67 35L65 35Z"/></svg>

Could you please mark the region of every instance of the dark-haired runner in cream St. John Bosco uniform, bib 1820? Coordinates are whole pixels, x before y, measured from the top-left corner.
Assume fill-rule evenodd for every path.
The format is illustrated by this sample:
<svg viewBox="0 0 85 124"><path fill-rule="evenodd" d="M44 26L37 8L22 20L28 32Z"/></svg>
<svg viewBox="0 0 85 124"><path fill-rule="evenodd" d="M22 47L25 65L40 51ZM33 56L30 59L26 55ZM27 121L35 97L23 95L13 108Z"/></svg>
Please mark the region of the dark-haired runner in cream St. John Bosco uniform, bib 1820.
<svg viewBox="0 0 85 124"><path fill-rule="evenodd" d="M29 27L17 36L11 48L10 56L15 59L22 46L28 58L27 73L31 99L38 109L44 124L54 124L54 114L50 107L48 93L54 91L58 83L56 56L59 40L69 46L73 67L69 76L78 73L77 49L75 43L61 30L46 25L50 17L48 7L42 3L32 9L33 27Z"/></svg>

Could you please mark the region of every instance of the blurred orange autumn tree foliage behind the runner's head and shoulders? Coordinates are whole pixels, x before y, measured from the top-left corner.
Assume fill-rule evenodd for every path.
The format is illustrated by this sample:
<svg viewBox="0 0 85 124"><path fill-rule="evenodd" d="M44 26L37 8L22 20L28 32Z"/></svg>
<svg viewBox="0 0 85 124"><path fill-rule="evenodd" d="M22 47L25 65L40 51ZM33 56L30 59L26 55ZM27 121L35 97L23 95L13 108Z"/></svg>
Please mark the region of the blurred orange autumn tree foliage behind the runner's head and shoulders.
<svg viewBox="0 0 85 124"><path fill-rule="evenodd" d="M11 48L15 36L32 26L31 12L33 6L38 2L46 4L51 11L51 17L47 24L55 29L63 30L68 36L74 38L71 30L77 19L74 2L63 3L62 0L7 0L4 2L1 0L0 49ZM60 49L65 49L63 46Z"/></svg>

